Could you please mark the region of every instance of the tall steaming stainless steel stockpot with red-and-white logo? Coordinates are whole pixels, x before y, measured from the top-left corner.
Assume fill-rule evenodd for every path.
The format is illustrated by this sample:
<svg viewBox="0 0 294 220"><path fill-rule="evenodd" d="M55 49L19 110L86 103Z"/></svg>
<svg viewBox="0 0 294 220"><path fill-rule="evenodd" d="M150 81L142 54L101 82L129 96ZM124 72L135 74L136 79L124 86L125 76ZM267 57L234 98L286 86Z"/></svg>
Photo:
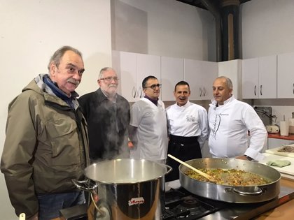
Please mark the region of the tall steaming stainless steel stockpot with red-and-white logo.
<svg viewBox="0 0 294 220"><path fill-rule="evenodd" d="M96 182L99 210L111 212L106 219L151 220L160 219L164 176L171 170L153 161L116 159L93 163L85 176Z"/></svg>

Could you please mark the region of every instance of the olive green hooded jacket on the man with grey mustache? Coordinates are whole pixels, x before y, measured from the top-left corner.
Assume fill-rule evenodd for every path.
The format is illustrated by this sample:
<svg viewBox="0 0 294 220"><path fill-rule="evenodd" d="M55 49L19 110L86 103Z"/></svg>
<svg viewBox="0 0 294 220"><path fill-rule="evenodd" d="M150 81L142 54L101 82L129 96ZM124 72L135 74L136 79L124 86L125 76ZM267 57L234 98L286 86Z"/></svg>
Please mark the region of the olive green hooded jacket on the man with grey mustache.
<svg viewBox="0 0 294 220"><path fill-rule="evenodd" d="M8 106L1 158L10 202L19 215L38 212L39 193L76 191L71 179L83 179L89 165L87 124L52 92L41 75ZM38 84L36 84L38 81Z"/></svg>

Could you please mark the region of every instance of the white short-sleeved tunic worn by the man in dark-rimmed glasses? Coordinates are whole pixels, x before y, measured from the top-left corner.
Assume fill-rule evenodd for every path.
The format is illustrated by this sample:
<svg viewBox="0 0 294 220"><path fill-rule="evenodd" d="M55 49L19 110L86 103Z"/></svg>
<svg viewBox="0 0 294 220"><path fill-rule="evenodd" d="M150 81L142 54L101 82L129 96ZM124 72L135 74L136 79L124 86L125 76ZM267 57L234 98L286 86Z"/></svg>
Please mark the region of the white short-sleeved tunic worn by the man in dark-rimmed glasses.
<svg viewBox="0 0 294 220"><path fill-rule="evenodd" d="M131 108L130 125L137 127L137 143L130 150L130 158L161 161L167 159L167 117L165 103L158 106L148 98L141 98Z"/></svg>

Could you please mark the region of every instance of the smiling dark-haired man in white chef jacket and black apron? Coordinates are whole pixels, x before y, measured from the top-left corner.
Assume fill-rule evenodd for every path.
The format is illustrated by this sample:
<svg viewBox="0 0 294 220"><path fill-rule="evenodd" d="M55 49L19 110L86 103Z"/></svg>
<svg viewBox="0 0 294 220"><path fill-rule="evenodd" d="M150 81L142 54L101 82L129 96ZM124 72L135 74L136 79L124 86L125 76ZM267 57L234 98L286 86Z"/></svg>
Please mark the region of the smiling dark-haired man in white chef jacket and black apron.
<svg viewBox="0 0 294 220"><path fill-rule="evenodd" d="M176 103L166 110L169 128L168 154L181 161L202 158L201 149L209 133L207 110L201 105L190 103L190 94L188 82L178 82L174 87ZM179 179L180 164L170 158L167 158L167 164L173 170L166 176L166 181Z"/></svg>

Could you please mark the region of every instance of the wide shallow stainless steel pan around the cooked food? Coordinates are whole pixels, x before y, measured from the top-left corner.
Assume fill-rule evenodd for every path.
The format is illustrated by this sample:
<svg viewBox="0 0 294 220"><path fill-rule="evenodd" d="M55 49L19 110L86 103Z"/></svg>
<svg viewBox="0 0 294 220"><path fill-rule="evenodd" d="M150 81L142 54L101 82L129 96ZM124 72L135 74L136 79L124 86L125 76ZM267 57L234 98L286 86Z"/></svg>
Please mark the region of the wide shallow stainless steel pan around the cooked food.
<svg viewBox="0 0 294 220"><path fill-rule="evenodd" d="M239 159L193 159L186 161L190 166L201 168L223 168L245 170L251 173L262 175L270 180L269 184L260 186L226 186L210 182L202 182L185 175L189 170L186 166L180 165L180 183L183 188L195 195L213 200L221 200L229 203L259 203L276 198L280 192L279 181L281 174L269 166L253 161Z"/></svg>

